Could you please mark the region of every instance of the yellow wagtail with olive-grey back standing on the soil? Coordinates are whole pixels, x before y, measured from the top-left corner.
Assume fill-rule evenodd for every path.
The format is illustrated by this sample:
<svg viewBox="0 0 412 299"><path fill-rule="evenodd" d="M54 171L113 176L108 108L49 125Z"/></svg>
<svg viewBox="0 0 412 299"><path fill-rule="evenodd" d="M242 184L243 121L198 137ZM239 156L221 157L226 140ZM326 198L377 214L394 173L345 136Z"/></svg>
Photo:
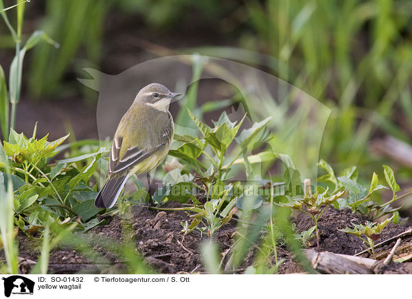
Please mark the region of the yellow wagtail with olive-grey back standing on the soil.
<svg viewBox="0 0 412 299"><path fill-rule="evenodd" d="M148 84L137 93L117 126L108 157L108 178L95 198L95 206L111 208L128 178L144 173L148 180L150 206L150 171L168 155L174 135L169 105L179 95L159 83Z"/></svg>

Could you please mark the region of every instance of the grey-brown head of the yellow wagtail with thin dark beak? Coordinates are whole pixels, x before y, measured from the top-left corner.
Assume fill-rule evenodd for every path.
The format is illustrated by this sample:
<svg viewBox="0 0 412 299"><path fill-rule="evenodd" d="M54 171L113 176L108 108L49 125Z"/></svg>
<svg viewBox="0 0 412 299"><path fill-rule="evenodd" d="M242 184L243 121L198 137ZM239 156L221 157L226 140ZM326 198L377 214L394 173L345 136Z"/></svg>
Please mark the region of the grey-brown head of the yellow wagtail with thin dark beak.
<svg viewBox="0 0 412 299"><path fill-rule="evenodd" d="M172 93L166 86L159 83L151 83L141 88L135 101L153 106L157 110L166 110L174 97L180 93Z"/></svg>

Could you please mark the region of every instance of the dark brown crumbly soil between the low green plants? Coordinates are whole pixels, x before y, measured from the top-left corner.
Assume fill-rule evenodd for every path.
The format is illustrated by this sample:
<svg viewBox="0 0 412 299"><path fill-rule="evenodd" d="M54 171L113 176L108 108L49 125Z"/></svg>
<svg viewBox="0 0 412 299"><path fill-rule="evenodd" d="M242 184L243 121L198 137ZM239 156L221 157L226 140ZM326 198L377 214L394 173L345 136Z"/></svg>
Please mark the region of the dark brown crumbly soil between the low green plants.
<svg viewBox="0 0 412 299"><path fill-rule="evenodd" d="M177 207L179 204L170 203L168 208ZM99 217L103 219L102 217ZM190 222L190 217L184 211L156 211L142 206L130 208L128 216L116 215L105 217L108 224L97 226L87 233L78 233L75 239L65 241L60 247L50 252L49 272L54 274L73 273L127 273L130 269L126 265L124 254L119 252L119 244L131 243L135 250L144 257L144 261L152 272L167 274L176 273L207 273L203 267L200 246L208 241L206 233L194 230L183 237L181 222ZM329 251L339 254L354 255L363 251L362 241L352 235L339 232L339 228L350 226L351 223L364 223L367 219L360 215L354 215L349 209L342 211L328 207L319 221L321 238L319 248L316 241L312 240L309 247L318 251ZM293 220L297 231L307 230L312 226L308 215L300 213ZM222 253L222 267L227 263L229 249L233 245L236 235L237 222L231 222L222 226L212 237ZM407 230L407 226L401 224L389 224L382 232L376 243L391 239ZM22 258L20 271L25 274L30 272L34 261L38 260L39 242L28 239L20 233L19 256ZM393 248L396 239L376 248L378 259L385 259L387 252ZM404 237L404 244L412 244L412 237ZM89 244L89 245L86 245ZM284 259L279 267L279 274L304 272L300 265L294 261L294 256L285 246L277 248L278 259ZM87 246L93 248L88 250ZM410 250L410 248L409 248ZM247 266L255 260L256 250L250 250L240 269L227 271L227 273L242 273ZM94 253L91 253L94 252ZM386 252L386 253L385 253ZM385 256L380 256L385 255ZM409 254L411 252L409 251ZM371 257L368 253L364 257ZM379 257L380 256L380 257ZM3 252L0 253L3 260ZM274 263L274 257L271 257ZM374 270L376 274L412 274L412 262L380 263Z"/></svg>

